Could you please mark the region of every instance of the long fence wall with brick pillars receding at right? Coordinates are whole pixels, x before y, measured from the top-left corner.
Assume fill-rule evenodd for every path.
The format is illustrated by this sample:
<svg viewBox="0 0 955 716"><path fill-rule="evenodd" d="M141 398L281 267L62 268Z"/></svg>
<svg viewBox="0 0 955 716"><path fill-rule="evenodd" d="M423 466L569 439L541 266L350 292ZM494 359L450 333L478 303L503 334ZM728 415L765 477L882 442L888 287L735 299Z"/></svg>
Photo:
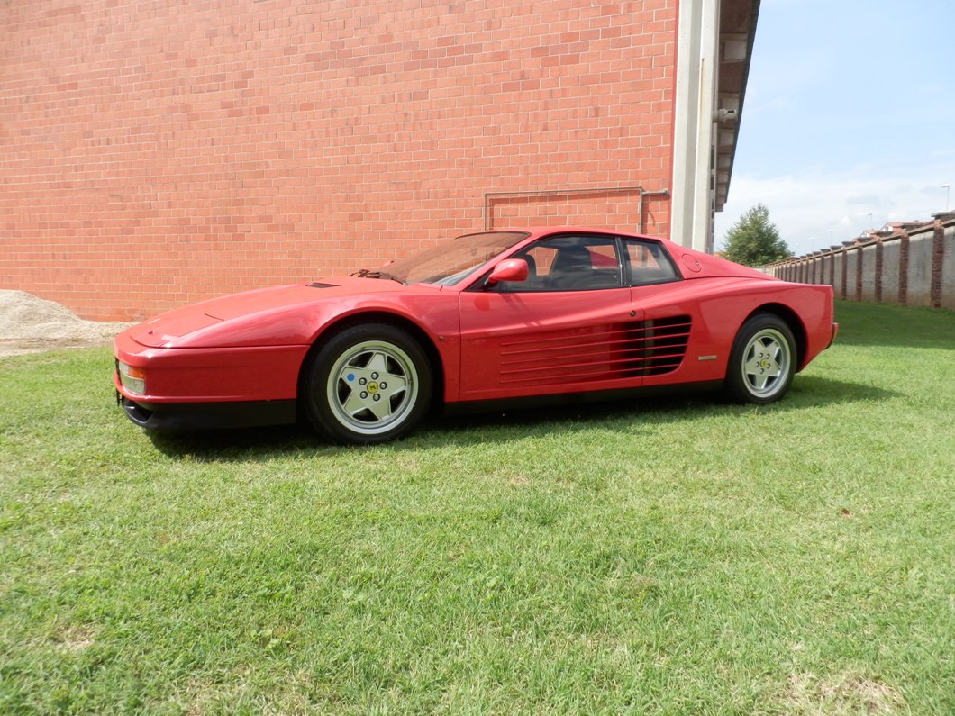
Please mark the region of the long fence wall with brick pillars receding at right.
<svg viewBox="0 0 955 716"><path fill-rule="evenodd" d="M836 298L955 310L955 220L775 263L776 278L831 284Z"/></svg>

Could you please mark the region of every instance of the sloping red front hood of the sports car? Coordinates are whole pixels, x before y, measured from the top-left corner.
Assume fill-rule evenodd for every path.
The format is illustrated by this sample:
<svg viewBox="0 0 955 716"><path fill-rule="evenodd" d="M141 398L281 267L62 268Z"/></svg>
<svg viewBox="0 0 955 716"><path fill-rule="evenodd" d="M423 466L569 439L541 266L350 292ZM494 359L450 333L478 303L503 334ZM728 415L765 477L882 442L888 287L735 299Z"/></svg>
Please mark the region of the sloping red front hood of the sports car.
<svg viewBox="0 0 955 716"><path fill-rule="evenodd" d="M198 338L213 331L223 336L228 334L224 345L248 345L250 341L260 345L295 344L308 340L313 326L310 318L313 311L303 310L308 305L406 289L407 286L387 279L351 277L259 288L185 305L133 326L127 332L137 343L149 347L168 347L182 343L186 336ZM223 345L223 338L217 338L214 343Z"/></svg>

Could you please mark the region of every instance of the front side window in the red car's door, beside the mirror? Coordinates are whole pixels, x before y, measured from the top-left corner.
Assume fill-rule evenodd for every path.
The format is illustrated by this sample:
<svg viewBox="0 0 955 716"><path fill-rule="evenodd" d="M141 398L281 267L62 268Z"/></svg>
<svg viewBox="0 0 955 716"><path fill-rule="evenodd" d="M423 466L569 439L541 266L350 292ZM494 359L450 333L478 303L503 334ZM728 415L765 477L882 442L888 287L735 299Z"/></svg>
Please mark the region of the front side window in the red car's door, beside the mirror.
<svg viewBox="0 0 955 716"><path fill-rule="evenodd" d="M499 284L509 293L588 291L623 285L618 243L611 237L556 236L525 248L515 259L527 262L527 280Z"/></svg>

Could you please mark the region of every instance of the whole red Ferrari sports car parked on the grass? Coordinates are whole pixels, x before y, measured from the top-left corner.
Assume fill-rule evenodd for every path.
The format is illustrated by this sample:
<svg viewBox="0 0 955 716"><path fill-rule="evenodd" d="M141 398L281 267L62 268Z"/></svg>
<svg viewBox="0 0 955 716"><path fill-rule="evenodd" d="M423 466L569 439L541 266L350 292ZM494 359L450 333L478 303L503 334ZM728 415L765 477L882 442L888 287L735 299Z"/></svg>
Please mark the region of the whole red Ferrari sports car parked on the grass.
<svg viewBox="0 0 955 716"><path fill-rule="evenodd" d="M828 285L663 239L540 228L462 236L380 270L189 305L117 336L144 428L305 418L376 443L445 411L722 387L769 403L836 336Z"/></svg>

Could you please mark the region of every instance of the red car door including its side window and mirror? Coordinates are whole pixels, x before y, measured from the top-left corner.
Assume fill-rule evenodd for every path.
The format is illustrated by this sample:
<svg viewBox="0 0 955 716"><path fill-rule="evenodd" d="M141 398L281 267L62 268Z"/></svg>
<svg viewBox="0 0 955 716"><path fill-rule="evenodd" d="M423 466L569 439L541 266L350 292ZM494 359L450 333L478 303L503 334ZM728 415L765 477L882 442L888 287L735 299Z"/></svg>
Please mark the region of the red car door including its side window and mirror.
<svg viewBox="0 0 955 716"><path fill-rule="evenodd" d="M626 282L623 244L602 234L560 234L512 258L525 281L460 294L462 401L641 384L631 329L641 316Z"/></svg>

